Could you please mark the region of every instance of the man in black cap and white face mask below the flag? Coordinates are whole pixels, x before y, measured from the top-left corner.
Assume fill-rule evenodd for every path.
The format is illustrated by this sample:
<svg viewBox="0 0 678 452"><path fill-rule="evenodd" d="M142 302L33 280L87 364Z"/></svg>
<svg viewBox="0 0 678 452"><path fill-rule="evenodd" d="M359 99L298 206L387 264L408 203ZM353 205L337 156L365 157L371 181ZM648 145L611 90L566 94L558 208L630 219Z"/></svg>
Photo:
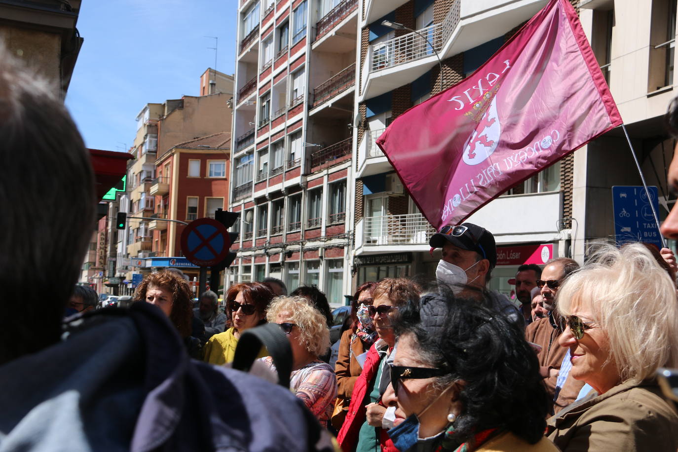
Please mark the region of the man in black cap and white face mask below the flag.
<svg viewBox="0 0 678 452"><path fill-rule="evenodd" d="M497 263L497 246L489 231L473 223L443 226L428 244L442 248L442 259L435 270L439 283L449 285L454 293L461 295L473 296L471 287L486 289ZM492 300L493 308L521 327L525 326L518 308L506 296L492 291L488 298Z"/></svg>

